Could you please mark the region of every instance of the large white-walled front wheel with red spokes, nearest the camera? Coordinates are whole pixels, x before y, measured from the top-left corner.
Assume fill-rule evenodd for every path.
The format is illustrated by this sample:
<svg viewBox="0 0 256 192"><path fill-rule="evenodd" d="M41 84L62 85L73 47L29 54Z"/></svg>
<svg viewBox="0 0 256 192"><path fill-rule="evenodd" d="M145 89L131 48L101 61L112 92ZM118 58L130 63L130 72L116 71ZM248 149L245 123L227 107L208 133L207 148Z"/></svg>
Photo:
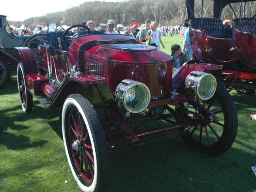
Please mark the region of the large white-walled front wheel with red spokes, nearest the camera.
<svg viewBox="0 0 256 192"><path fill-rule="evenodd" d="M103 128L92 104L80 94L66 99L62 134L68 164L84 192L106 188L108 153Z"/></svg>

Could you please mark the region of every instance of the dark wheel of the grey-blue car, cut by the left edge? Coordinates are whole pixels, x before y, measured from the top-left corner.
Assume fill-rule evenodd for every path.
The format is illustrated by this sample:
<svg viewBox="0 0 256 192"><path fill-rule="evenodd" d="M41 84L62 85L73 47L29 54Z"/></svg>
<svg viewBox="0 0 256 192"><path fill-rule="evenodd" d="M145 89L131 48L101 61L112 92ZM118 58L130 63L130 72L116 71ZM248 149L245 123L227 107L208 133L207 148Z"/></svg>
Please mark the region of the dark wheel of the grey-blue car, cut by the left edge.
<svg viewBox="0 0 256 192"><path fill-rule="evenodd" d="M9 64L0 57L0 88L6 86L11 78L11 68Z"/></svg>

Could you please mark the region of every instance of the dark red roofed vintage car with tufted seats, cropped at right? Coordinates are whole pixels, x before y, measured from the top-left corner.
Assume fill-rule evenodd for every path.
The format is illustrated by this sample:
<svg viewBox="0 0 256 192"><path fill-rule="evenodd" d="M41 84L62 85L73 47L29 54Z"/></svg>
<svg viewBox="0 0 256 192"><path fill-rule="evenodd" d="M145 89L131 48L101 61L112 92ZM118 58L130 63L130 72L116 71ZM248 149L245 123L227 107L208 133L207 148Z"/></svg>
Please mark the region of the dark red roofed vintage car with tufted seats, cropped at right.
<svg viewBox="0 0 256 192"><path fill-rule="evenodd" d="M194 63L223 65L214 76L228 90L254 94L256 91L256 15L243 17L246 2L255 0L213 0L213 17L196 17L194 0L186 0L190 24L190 44ZM240 4L240 12L235 10ZM204 1L202 1L202 7ZM236 9L233 8L236 6ZM223 24L222 10L230 7L232 24ZM201 13L201 16L203 13Z"/></svg>

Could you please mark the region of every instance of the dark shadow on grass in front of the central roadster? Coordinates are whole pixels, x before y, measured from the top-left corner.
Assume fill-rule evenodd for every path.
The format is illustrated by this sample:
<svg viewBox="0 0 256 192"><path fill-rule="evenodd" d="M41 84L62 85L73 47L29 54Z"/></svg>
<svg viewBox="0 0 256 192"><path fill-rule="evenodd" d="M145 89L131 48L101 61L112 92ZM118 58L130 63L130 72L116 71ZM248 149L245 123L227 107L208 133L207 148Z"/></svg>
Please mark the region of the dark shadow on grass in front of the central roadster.
<svg viewBox="0 0 256 192"><path fill-rule="evenodd" d="M255 155L234 148L212 158L176 137L113 152L109 159L106 192L256 190Z"/></svg>

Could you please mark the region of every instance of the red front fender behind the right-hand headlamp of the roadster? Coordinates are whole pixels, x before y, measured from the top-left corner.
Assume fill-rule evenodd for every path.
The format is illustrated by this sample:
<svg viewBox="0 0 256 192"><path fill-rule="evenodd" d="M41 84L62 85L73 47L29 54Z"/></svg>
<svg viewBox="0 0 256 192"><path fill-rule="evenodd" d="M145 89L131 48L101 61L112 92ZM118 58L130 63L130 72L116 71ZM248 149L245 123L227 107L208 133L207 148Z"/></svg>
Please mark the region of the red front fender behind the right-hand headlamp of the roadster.
<svg viewBox="0 0 256 192"><path fill-rule="evenodd" d="M222 65L210 64L210 63L188 63L184 66L178 68L172 74L172 89L180 90L181 92L186 92L185 89L185 80L186 77L192 71L208 72L210 74L215 71L219 71L222 68ZM215 75L214 75L215 76ZM216 78L216 76L215 76Z"/></svg>

